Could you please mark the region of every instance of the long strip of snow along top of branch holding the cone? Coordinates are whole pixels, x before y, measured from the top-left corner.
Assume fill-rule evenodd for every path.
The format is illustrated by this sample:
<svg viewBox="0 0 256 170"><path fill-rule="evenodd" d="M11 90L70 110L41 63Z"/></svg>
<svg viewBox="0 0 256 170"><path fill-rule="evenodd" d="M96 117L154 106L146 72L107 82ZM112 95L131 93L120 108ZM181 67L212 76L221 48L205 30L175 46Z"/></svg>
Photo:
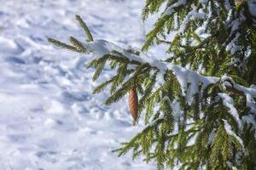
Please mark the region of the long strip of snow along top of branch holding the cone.
<svg viewBox="0 0 256 170"><path fill-rule="evenodd" d="M130 61L148 63L148 65L159 69L159 74L161 74L161 76L163 76L167 70L170 70L173 72L173 74L176 75L177 81L180 83L180 86L183 90L183 95L185 95L185 91L188 88L188 84L190 84L191 87L191 94L196 94L198 92L199 83L202 83L202 87L206 88L209 84L222 81L224 88L236 88L237 91L241 92L242 94L245 94L247 96L247 106L252 109L253 113L256 113L256 106L253 101L253 98L256 97L256 88L254 88L254 86L251 86L250 88L241 86L237 84L231 77L227 76L202 76L195 71L191 71L182 66L173 65L172 63L166 63L160 59L148 56L143 52L140 52L139 54L132 54L128 50L118 47L113 42L108 42L105 40L84 42L83 45L90 52L96 54L97 57L101 57L106 54L113 54L114 51L117 51L121 54L124 54L124 56Z"/></svg>

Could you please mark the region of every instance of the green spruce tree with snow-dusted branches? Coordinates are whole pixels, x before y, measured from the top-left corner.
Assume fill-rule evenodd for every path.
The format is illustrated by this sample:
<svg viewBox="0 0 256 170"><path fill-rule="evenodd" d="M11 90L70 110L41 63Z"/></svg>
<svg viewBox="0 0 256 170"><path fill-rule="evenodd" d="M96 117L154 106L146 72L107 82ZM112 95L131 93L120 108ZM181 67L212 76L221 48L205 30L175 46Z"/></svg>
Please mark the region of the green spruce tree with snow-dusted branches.
<svg viewBox="0 0 256 170"><path fill-rule="evenodd" d="M95 81L104 66L116 75L107 105L131 89L138 94L138 117L145 127L123 144L133 158L154 160L158 169L253 169L256 167L256 2L254 0L146 0L143 20L160 17L142 50L94 40L79 16L87 42L60 48L92 53ZM166 59L145 54L166 44Z"/></svg>

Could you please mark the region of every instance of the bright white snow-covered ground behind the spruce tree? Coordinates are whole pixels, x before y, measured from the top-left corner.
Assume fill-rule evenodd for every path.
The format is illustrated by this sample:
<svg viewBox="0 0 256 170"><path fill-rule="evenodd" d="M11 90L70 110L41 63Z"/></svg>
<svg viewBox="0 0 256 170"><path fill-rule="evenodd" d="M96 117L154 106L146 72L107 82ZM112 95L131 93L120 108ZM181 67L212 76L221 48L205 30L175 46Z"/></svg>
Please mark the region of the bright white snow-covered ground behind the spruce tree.
<svg viewBox="0 0 256 170"><path fill-rule="evenodd" d="M95 38L140 47L144 28L138 0L0 0L0 169L155 169L143 158L111 150L131 139L127 100L104 105L91 94L91 55L53 47L46 37L85 40L80 14ZM105 69L101 79L112 71Z"/></svg>

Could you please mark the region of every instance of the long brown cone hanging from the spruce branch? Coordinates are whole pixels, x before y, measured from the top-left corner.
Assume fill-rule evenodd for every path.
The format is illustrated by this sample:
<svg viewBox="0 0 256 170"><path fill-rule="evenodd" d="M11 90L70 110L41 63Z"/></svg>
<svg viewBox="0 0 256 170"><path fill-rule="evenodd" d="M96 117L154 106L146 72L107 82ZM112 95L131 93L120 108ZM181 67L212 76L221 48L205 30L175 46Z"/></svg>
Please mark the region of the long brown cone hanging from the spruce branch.
<svg viewBox="0 0 256 170"><path fill-rule="evenodd" d="M132 88L129 92L129 108L134 122L137 122L138 99L136 88Z"/></svg>

